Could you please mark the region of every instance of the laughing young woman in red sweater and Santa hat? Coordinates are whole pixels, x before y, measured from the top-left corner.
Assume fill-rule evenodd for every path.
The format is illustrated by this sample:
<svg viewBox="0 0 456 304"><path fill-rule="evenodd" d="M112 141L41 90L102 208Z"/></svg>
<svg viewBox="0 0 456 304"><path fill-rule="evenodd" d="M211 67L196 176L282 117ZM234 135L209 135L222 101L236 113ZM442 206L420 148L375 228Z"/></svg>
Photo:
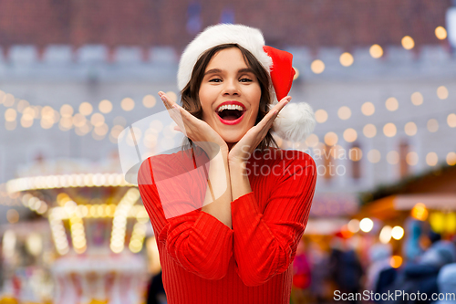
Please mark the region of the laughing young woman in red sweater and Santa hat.
<svg viewBox="0 0 456 304"><path fill-rule="evenodd" d="M289 303L316 187L314 160L270 133L293 75L259 30L210 26L181 57L182 106L159 93L190 143L138 175L168 303Z"/></svg>

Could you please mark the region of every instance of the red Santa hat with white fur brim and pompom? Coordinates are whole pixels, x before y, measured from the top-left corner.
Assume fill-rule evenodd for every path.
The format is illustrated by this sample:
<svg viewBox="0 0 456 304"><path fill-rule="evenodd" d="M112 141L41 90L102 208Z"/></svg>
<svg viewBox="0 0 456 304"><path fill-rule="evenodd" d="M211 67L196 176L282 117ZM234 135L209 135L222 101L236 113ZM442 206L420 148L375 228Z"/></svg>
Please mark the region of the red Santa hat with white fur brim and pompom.
<svg viewBox="0 0 456 304"><path fill-rule="evenodd" d="M198 58L209 48L223 44L244 47L266 69L273 84L270 88L274 99L271 108L288 94L295 76L295 69L292 67L293 55L265 46L263 34L256 28L226 24L207 27L185 48L177 73L180 90L190 81ZM306 102L290 102L279 112L273 124L273 131L285 141L304 142L314 131L315 123L314 111Z"/></svg>

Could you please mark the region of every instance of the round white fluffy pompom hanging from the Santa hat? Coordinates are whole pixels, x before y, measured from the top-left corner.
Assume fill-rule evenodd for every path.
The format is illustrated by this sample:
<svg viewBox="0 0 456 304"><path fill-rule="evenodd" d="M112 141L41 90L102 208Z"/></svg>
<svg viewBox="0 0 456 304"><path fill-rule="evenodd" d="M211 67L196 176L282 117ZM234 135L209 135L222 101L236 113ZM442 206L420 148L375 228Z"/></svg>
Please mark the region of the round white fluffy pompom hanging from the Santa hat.
<svg viewBox="0 0 456 304"><path fill-rule="evenodd" d="M273 131L285 141L304 142L315 125L314 110L308 103L288 103L275 119Z"/></svg>

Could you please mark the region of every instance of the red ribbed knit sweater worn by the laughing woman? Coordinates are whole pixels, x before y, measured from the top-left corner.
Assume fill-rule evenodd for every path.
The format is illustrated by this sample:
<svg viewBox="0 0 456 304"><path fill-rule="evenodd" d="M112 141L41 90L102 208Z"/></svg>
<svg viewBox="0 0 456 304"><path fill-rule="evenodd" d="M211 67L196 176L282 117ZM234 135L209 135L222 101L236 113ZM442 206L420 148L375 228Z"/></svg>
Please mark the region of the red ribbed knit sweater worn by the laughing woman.
<svg viewBox="0 0 456 304"><path fill-rule="evenodd" d="M177 152L140 166L168 303L288 304L316 187L314 160L304 152L255 151L247 163L253 191L231 203L233 229L201 210L207 175L197 163L207 161L204 153L194 159Z"/></svg>

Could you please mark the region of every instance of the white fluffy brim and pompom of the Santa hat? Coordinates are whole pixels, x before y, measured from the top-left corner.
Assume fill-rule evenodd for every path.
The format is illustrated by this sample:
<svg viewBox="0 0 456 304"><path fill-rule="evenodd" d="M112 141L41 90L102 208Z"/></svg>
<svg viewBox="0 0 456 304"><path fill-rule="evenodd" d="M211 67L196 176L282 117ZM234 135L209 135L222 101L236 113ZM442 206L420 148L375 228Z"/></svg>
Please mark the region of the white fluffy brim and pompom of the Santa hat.
<svg viewBox="0 0 456 304"><path fill-rule="evenodd" d="M264 51L264 37L257 28L243 25L221 24L208 26L185 47L179 62L177 83L185 88L192 70L202 54L223 44L235 43L249 50L270 75L273 59ZM276 101L274 87L270 86L272 100ZM307 103L289 103L274 121L273 131L285 141L304 142L315 127L314 111Z"/></svg>

